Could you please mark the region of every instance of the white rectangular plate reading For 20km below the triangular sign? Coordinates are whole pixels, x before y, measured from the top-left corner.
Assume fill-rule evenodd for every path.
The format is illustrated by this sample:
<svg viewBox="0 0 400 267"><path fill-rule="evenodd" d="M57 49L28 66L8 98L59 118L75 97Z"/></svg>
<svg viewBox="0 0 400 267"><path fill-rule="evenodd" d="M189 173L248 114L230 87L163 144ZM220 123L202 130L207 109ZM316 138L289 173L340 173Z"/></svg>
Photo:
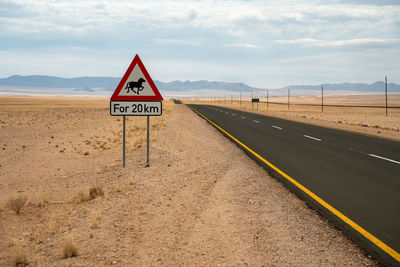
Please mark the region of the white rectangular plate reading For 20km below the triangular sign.
<svg viewBox="0 0 400 267"><path fill-rule="evenodd" d="M161 101L110 101L111 116L161 116Z"/></svg>

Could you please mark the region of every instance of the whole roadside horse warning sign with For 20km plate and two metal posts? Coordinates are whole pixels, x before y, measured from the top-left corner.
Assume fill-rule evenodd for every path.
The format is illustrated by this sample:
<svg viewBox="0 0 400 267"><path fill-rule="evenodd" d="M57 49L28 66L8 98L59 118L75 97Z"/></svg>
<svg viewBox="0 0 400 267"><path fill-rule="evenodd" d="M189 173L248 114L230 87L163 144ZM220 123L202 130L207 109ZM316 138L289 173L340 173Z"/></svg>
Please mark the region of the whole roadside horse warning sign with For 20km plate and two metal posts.
<svg viewBox="0 0 400 267"><path fill-rule="evenodd" d="M123 116L122 121L122 167L125 167L126 116L147 116L147 157L150 166L150 116L162 115L163 97L136 55L110 98L110 115Z"/></svg>

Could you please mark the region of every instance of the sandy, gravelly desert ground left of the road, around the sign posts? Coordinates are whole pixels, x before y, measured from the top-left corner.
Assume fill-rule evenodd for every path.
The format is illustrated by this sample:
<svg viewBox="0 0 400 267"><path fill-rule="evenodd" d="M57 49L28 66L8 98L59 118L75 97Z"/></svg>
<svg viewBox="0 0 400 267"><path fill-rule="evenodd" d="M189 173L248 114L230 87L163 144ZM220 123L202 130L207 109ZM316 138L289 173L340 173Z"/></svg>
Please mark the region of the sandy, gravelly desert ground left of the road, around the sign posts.
<svg viewBox="0 0 400 267"><path fill-rule="evenodd" d="M148 168L145 119L128 119L122 168L108 105L0 98L1 266L18 253L33 266L376 265L184 105L151 118ZM19 215L13 196L27 197Z"/></svg>

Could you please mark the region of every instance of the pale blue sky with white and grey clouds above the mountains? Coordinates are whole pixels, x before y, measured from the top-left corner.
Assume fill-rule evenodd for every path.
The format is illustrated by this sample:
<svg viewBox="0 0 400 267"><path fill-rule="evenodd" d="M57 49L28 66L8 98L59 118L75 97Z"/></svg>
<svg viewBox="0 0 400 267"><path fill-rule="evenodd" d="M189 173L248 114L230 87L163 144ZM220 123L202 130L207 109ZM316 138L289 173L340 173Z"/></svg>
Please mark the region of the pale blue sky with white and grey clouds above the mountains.
<svg viewBox="0 0 400 267"><path fill-rule="evenodd" d="M0 0L0 77L400 83L400 0Z"/></svg>

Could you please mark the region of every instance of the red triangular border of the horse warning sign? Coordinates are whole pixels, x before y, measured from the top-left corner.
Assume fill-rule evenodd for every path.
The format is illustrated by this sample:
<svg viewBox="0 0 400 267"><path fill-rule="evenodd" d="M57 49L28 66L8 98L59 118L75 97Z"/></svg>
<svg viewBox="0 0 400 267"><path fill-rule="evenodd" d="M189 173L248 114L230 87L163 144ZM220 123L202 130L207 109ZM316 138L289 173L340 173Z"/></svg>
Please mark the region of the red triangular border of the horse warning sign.
<svg viewBox="0 0 400 267"><path fill-rule="evenodd" d="M118 94L121 92L122 87L125 85L126 80L128 80L129 75L131 75L133 68L139 65L146 81L149 83L151 89L154 92L154 96L119 96ZM147 72L145 66L143 65L142 61L138 54L136 54L135 58L132 60L132 63L129 65L128 69L125 72L124 77L122 77L121 81L119 82L117 88L115 89L113 95L110 98L110 101L163 101L163 97L161 96L160 92L157 89L157 86L154 84L153 79L151 79L149 73Z"/></svg>

